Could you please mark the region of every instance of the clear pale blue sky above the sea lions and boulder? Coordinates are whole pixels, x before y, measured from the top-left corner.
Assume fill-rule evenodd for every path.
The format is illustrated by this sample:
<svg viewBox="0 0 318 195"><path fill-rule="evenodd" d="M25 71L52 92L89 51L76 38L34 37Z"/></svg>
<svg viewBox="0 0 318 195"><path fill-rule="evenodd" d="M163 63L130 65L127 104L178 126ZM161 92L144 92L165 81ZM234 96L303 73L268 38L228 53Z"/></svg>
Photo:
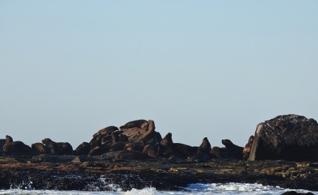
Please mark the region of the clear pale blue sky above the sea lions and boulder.
<svg viewBox="0 0 318 195"><path fill-rule="evenodd" d="M245 146L318 120L318 1L0 0L0 138L75 149L138 119L174 142Z"/></svg>

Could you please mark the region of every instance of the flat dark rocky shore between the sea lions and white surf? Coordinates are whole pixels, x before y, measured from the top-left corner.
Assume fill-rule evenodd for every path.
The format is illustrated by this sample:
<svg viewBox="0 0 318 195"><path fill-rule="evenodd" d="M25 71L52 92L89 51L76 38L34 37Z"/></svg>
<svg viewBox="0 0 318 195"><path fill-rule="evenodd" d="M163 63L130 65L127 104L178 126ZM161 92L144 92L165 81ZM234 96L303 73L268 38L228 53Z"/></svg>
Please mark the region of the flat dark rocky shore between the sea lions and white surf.
<svg viewBox="0 0 318 195"><path fill-rule="evenodd" d="M112 191L193 183L245 182L318 191L318 163L293 161L139 161L109 156L0 156L0 189Z"/></svg>

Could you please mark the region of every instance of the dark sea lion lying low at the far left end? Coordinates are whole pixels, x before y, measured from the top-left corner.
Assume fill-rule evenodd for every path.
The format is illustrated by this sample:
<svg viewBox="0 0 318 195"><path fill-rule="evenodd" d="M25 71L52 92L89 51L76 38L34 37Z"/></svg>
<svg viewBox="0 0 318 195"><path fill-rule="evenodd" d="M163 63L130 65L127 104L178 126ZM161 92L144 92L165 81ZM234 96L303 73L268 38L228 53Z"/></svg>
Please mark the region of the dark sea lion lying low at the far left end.
<svg viewBox="0 0 318 195"><path fill-rule="evenodd" d="M33 155L34 152L30 146L25 145L22 141L12 141L9 144L4 144L4 153L14 155Z"/></svg>

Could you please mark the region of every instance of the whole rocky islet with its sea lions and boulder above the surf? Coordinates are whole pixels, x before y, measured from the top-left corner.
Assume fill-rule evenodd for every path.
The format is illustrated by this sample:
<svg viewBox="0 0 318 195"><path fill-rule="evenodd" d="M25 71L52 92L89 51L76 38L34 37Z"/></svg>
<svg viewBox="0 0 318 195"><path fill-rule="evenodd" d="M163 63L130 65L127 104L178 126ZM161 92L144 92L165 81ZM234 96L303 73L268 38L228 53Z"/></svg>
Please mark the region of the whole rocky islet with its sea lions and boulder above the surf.
<svg viewBox="0 0 318 195"><path fill-rule="evenodd" d="M206 137L200 146L174 143L153 120L106 127L75 150L67 142L27 146L7 136L0 140L0 189L183 190L198 182L245 182L318 191L315 120L281 115L257 125L245 147L222 143L212 147Z"/></svg>

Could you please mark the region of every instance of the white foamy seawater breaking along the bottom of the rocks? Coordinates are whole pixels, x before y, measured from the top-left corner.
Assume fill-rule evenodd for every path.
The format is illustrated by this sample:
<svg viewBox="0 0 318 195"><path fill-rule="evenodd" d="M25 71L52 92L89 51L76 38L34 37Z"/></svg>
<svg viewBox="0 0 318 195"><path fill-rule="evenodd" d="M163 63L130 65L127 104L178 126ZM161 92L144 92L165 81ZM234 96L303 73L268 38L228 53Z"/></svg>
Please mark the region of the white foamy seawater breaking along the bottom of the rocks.
<svg viewBox="0 0 318 195"><path fill-rule="evenodd" d="M190 184L181 191L158 191L153 187L144 189L131 189L131 191L122 191L116 186L112 187L112 191L54 191L54 190L33 190L33 189L8 189L0 190L0 194L122 194L122 195L207 195L207 194L283 194L290 189L280 187L263 186L261 184L244 184L244 183L225 183L225 184ZM293 189L294 190L294 189ZM302 189L294 190L297 192L312 192L318 195L318 191L307 191Z"/></svg>

